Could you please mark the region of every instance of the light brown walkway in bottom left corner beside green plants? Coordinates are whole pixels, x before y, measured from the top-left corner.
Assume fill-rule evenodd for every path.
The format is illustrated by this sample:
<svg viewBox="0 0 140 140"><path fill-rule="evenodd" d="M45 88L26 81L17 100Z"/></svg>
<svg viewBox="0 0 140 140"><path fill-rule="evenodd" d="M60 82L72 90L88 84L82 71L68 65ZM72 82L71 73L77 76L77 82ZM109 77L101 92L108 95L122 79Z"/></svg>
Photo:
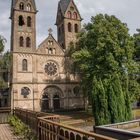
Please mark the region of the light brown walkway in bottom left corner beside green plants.
<svg viewBox="0 0 140 140"><path fill-rule="evenodd" d="M13 135L9 124L0 124L0 140L21 140Z"/></svg>

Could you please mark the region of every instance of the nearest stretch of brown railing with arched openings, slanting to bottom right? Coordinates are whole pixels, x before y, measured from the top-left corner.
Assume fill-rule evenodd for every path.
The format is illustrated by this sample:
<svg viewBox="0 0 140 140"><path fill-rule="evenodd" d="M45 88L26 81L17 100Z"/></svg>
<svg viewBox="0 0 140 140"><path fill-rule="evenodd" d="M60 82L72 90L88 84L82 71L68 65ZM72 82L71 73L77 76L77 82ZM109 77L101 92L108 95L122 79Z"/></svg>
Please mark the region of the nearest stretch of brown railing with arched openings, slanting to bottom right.
<svg viewBox="0 0 140 140"><path fill-rule="evenodd" d="M115 140L106 136L86 132L50 120L39 118L39 140Z"/></svg>

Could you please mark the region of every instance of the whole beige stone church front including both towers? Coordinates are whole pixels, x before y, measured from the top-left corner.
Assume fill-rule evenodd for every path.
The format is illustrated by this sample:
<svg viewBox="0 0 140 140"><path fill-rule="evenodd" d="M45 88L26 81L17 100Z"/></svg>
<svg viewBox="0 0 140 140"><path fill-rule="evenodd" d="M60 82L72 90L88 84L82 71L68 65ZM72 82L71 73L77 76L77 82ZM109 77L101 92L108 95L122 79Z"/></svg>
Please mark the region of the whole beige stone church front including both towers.
<svg viewBox="0 0 140 140"><path fill-rule="evenodd" d="M48 37L36 46L35 0L12 0L11 6L11 105L55 111L84 108L80 78L68 70L66 53L81 28L73 0L58 2L58 41Z"/></svg>

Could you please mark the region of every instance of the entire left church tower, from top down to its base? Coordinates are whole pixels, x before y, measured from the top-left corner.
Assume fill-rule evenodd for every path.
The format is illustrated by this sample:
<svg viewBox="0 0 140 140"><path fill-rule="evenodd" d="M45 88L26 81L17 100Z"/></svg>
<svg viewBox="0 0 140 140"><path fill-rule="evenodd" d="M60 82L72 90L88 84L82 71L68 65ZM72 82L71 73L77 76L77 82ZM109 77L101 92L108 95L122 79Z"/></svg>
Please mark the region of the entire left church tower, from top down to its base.
<svg viewBox="0 0 140 140"><path fill-rule="evenodd" d="M12 0L11 5L11 106L33 108L36 77L35 0ZM33 105L32 105L33 106Z"/></svg>

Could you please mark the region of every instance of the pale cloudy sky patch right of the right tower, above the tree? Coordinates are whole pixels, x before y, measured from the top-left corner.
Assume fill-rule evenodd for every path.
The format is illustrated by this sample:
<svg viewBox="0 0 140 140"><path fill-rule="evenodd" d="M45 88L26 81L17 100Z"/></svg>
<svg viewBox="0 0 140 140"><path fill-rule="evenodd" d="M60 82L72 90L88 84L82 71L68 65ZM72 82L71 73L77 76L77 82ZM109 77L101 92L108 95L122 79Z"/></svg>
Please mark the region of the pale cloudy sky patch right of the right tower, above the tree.
<svg viewBox="0 0 140 140"><path fill-rule="evenodd" d="M77 7L84 18L84 23L90 21L91 16L99 13L115 15L122 22L128 24L130 33L140 28L140 1L139 0L75 0Z"/></svg>

